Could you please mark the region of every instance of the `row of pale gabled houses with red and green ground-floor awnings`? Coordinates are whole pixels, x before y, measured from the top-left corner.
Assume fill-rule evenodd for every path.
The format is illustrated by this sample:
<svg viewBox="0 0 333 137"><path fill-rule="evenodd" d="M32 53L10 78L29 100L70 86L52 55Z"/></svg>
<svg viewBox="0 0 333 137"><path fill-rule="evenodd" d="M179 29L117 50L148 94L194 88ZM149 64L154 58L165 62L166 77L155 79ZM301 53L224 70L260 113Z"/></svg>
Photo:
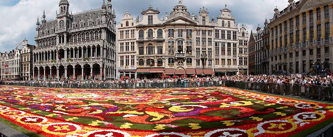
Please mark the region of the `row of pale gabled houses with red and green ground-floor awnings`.
<svg viewBox="0 0 333 137"><path fill-rule="evenodd" d="M224 10L221 10L223 13ZM230 10L226 17L220 17L220 23L215 23L214 18L208 16L208 9L204 7L199 10L199 16L189 13L182 1L174 6L171 13L161 20L158 8L150 7L143 10L142 19L139 17L133 22L133 17L127 12L118 25L119 31L119 71L120 75L133 78L157 78L162 74L166 75L216 75L214 67L223 68L220 60L226 56L215 56L214 32L218 25L221 26L222 19L230 20L230 27L225 26L224 30L230 30L230 44L234 43L235 53L230 59L235 60L233 65L224 65L225 68L238 72L238 43L246 41L242 49L247 50L247 33L245 28L238 31L238 25L230 16ZM232 17L232 18L231 18ZM222 29L222 28L221 28ZM232 29L232 31L231 31ZM132 30L135 31L132 34ZM225 38L218 42L228 41L228 31L225 31ZM231 34L232 33L232 34ZM243 37L238 35L244 34ZM133 38L134 36L134 38ZM133 44L135 43L135 44ZM227 44L225 44L227 45ZM135 52L132 50L135 48ZM219 50L219 49L218 49ZM220 51L220 50L219 50ZM227 48L225 48L227 51ZM220 52L218 52L220 53ZM227 52L225 52L227 53ZM230 51L231 53L231 51ZM246 56L245 53L243 53ZM218 58L215 58L218 57ZM133 60L135 59L135 64ZM218 63L216 63L216 59ZM227 60L227 59L226 59ZM246 60L246 63L243 61ZM247 56L243 58L242 68L247 70ZM226 62L226 61L225 61ZM231 67L232 66L232 67ZM225 74L225 73L224 73Z"/></svg>

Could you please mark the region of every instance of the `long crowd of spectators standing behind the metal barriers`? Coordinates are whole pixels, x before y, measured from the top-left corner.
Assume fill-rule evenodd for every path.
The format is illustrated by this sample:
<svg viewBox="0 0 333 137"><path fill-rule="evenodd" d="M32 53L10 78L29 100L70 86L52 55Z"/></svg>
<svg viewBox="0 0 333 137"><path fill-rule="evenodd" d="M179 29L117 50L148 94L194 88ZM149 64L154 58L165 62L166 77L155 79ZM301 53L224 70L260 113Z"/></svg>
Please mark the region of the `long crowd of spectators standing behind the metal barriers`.
<svg viewBox="0 0 333 137"><path fill-rule="evenodd" d="M179 77L179 78L154 78L154 79L116 79L116 80L31 80L31 81L14 81L6 80L1 82L7 83L43 83L43 84L88 84L88 83L166 83L166 82L208 82L208 81L242 81L242 82L262 82L277 84L302 84L302 85L319 85L333 86L333 77L326 76L286 76L286 75L250 75L250 76L211 76L211 77Z"/></svg>

